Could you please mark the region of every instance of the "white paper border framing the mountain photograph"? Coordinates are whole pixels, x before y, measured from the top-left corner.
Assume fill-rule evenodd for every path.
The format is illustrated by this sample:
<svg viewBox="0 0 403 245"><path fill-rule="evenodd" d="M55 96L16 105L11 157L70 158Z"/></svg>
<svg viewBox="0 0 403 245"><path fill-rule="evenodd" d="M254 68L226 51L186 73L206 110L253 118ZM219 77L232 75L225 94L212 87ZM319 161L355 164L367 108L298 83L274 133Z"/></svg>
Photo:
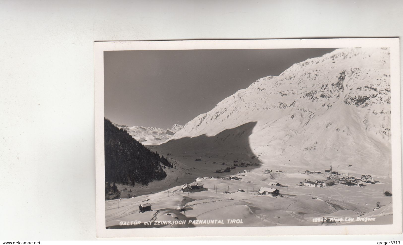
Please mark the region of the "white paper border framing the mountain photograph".
<svg viewBox="0 0 403 245"><path fill-rule="evenodd" d="M104 51L179 49L279 49L389 47L391 52L391 132L393 224L350 226L269 226L222 228L106 229L104 193ZM364 235L402 232L401 121L398 38L257 39L189 41L97 41L94 43L96 231L97 237L183 237L262 235Z"/></svg>

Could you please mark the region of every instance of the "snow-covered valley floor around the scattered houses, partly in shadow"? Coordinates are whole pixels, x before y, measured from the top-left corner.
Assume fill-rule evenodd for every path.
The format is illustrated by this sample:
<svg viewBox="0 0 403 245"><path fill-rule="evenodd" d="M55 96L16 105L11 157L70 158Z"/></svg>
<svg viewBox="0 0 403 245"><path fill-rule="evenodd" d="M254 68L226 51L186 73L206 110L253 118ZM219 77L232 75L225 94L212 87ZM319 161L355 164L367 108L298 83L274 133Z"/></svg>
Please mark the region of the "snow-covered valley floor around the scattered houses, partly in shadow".
<svg viewBox="0 0 403 245"><path fill-rule="evenodd" d="M166 168L168 176L162 181L154 181L148 186L118 185L120 200L105 202L107 228L159 228L159 227L230 227L230 226L315 226L351 224L391 224L392 197L383 195L391 191L392 181L388 177L374 176L380 181L364 187L337 184L329 187L300 186L299 181L326 179L323 174L304 173L306 167L295 167L295 161L253 157L241 153L215 152L158 152L169 158L176 169ZM201 161L195 161L201 159ZM259 166L236 167L230 173L215 173L241 162L260 164ZM215 162L215 163L214 163ZM225 162L225 165L222 163ZM269 164L270 162L270 164ZM294 165L294 164L293 164ZM283 170L283 173L264 174L265 169ZM241 180L224 179L237 175ZM311 169L316 170L316 169ZM318 169L324 171L324 169ZM337 169L334 169L337 171ZM364 173L362 173L364 174ZM350 173L360 177L361 173ZM207 188L206 191L183 193L184 183L196 178ZM260 187L278 182L282 186L277 198L258 195ZM132 198L127 198L131 189ZM237 191L243 189L244 192ZM168 192L169 190L169 192ZM224 194L224 191L231 192ZM139 212L139 205L149 202L151 211ZM379 209L374 210L378 206ZM177 210L177 205L185 210ZM342 218L340 222L314 222L315 218ZM367 218L357 221L359 218ZM349 221L345 221L350 218ZM368 218L375 218L370 220ZM195 221L199 220L199 221ZM204 221L206 220L206 221ZM214 221L215 220L215 221ZM151 221L151 223L149 223ZM170 221L164 222L164 221ZM176 221L176 222L175 222ZM181 222L179 222L181 221ZM148 223L147 223L148 222ZM208 222L208 223L207 223ZM135 225L137 224L137 225Z"/></svg>

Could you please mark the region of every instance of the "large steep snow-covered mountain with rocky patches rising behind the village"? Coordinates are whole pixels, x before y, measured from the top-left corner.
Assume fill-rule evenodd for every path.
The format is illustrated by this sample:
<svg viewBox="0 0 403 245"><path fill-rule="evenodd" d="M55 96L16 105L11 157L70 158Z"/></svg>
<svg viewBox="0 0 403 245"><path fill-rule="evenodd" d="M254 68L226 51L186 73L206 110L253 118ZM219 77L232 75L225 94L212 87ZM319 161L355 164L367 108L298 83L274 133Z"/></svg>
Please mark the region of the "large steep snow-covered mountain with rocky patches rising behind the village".
<svg viewBox="0 0 403 245"><path fill-rule="evenodd" d="M324 169L332 163L339 171L386 175L390 101L388 48L336 49L253 82L158 147L235 152L249 146L269 164Z"/></svg>

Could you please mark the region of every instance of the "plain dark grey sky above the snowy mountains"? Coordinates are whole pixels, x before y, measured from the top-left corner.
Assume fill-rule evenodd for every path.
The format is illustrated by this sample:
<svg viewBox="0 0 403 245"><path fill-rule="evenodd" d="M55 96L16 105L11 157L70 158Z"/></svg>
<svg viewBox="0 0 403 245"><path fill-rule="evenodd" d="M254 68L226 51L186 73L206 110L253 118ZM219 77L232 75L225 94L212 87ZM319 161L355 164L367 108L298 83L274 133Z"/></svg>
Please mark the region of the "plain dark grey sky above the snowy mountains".
<svg viewBox="0 0 403 245"><path fill-rule="evenodd" d="M105 117L171 128L265 76L334 49L105 51Z"/></svg>

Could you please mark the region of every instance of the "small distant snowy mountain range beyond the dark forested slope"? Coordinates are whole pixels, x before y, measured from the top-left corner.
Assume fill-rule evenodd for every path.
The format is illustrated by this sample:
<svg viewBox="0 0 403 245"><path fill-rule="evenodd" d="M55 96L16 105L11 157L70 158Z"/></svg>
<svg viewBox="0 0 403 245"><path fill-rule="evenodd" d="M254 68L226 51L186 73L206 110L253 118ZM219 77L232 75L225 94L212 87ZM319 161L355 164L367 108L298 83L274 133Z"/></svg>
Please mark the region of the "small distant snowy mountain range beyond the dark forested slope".
<svg viewBox="0 0 403 245"><path fill-rule="evenodd" d="M160 144L170 139L176 132L183 128L182 125L174 124L170 129L141 127L141 126L120 126L115 124L116 127L126 130L133 138L142 142L143 145Z"/></svg>

